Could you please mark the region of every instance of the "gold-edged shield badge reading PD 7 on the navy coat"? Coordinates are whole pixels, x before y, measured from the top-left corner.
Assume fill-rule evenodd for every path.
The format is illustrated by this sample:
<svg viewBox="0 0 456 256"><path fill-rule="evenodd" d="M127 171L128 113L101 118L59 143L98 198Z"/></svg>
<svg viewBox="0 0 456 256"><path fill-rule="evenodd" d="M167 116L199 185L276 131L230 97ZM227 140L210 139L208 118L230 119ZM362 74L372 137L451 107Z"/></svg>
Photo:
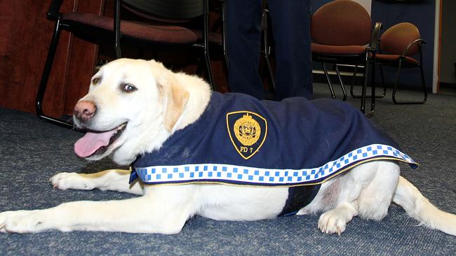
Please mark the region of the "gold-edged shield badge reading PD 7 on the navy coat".
<svg viewBox="0 0 456 256"><path fill-rule="evenodd" d="M229 138L244 159L253 157L260 150L267 136L267 121L250 111L227 113Z"/></svg>

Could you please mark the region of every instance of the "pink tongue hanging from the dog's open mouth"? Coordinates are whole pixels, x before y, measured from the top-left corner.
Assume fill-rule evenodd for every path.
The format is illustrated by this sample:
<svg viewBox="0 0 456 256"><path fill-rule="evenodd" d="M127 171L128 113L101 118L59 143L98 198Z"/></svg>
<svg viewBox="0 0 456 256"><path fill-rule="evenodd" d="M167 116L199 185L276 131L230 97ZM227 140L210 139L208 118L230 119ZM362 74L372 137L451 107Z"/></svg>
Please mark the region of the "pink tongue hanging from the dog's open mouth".
<svg viewBox="0 0 456 256"><path fill-rule="evenodd" d="M109 145L109 138L112 137L116 130L105 131L100 133L87 132L82 138L79 138L74 143L74 152L79 157L88 157L92 155L98 148Z"/></svg>

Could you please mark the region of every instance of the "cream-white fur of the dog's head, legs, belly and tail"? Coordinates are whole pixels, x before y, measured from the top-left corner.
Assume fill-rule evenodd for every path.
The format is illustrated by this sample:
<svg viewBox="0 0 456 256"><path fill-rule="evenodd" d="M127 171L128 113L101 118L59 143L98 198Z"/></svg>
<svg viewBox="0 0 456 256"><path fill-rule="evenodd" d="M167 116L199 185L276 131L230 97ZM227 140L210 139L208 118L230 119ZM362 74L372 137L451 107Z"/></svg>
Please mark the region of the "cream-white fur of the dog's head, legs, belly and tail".
<svg viewBox="0 0 456 256"><path fill-rule="evenodd" d="M118 59L95 74L81 101L95 103L89 125L75 118L76 126L105 131L128 122L125 131L96 160L112 155L130 164L136 155L160 148L173 133L197 120L210 99L203 80L173 73L154 61ZM123 92L124 84L135 92ZM288 197L286 187L236 187L229 185L128 185L129 171L107 170L93 174L59 173L51 178L62 190L117 190L140 197L119 201L73 201L54 208L0 213L1 232L41 232L58 229L161 233L180 232L193 215L214 220L263 220L281 213ZM324 212L321 232L340 234L356 215L381 220L391 201L413 218L434 229L456 235L456 216L433 206L407 180L395 162L376 161L356 166L323 183L311 204L297 214Z"/></svg>

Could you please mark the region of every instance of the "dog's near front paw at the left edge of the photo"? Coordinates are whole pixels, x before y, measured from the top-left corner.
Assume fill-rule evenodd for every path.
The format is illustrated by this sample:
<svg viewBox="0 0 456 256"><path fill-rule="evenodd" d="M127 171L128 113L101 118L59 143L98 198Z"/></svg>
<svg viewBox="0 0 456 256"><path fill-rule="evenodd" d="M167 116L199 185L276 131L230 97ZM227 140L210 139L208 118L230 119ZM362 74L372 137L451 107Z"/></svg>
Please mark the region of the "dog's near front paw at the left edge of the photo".
<svg viewBox="0 0 456 256"><path fill-rule="evenodd" d="M6 211L0 213L0 232L32 233L43 229L43 218L37 211Z"/></svg>

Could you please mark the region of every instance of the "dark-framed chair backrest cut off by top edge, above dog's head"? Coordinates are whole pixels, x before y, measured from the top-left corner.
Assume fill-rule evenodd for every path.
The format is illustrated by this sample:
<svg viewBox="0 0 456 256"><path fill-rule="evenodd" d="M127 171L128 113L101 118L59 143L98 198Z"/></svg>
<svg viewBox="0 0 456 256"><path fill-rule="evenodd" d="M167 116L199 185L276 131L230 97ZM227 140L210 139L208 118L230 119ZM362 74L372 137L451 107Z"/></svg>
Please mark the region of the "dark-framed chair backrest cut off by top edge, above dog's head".
<svg viewBox="0 0 456 256"><path fill-rule="evenodd" d="M208 0L121 0L121 3L139 15L163 20L190 20L208 13Z"/></svg>

